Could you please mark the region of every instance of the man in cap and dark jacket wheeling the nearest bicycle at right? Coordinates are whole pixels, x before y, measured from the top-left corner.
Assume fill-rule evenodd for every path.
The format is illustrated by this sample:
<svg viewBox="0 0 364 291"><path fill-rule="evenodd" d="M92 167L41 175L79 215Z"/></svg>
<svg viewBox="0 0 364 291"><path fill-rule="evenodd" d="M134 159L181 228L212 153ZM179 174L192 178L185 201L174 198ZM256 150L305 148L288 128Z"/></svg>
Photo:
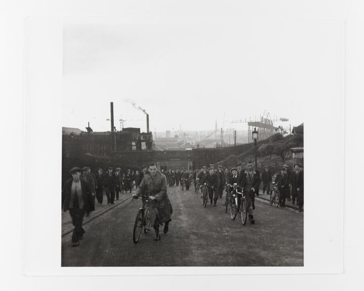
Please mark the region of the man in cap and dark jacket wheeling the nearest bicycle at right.
<svg viewBox="0 0 364 291"><path fill-rule="evenodd" d="M255 195L259 196L260 173L253 167L253 162L248 160L247 169L241 172L240 185L243 188L246 204L249 212L249 221L254 224L253 210L255 209Z"/></svg>

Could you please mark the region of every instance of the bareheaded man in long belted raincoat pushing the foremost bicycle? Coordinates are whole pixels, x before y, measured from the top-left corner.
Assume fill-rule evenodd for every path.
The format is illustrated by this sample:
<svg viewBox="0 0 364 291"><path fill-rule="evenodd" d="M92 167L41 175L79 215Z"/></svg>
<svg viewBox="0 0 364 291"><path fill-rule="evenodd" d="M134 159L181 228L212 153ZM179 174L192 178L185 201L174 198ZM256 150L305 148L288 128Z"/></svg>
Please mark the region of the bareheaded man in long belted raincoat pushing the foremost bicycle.
<svg viewBox="0 0 364 291"><path fill-rule="evenodd" d="M167 233L169 222L172 220L172 205L167 196L166 177L154 163L149 165L149 173L145 174L132 197L138 199L142 192L149 193L146 206L149 209L150 220L156 233L154 240L160 240L159 225L164 223L163 232Z"/></svg>

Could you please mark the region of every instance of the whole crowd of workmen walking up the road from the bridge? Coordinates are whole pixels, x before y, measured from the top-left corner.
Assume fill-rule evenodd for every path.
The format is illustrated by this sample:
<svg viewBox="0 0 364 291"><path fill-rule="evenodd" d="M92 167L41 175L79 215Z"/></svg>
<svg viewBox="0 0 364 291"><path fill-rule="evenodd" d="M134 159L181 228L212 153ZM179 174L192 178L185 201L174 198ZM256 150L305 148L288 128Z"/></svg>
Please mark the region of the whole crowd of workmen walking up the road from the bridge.
<svg viewBox="0 0 364 291"><path fill-rule="evenodd" d="M240 172L239 172L240 170ZM103 169L98 169L97 174L91 172L89 167L73 167L69 173L72 178L67 180L62 190L62 207L64 211L69 210L72 217L72 223L75 226L72 234L72 246L78 246L79 240L83 238L84 229L82 228L83 216L87 216L95 210L95 199L98 204L103 204L104 190L106 192L107 203L114 204L115 199L119 199L119 194L123 192L131 193L133 187L137 189L133 195L134 198L142 193L142 189L149 189L150 192L155 192L151 196L155 200L151 209L155 209L156 205L160 203L163 205L164 218L160 219L157 215L153 227L156 231L156 240L160 239L159 225L165 223L164 232L168 231L168 223L171 220L172 207L170 205L166 187L172 187L179 184L184 185L186 190L189 190L190 184L194 184L195 190L201 185L207 185L208 197L210 204L216 206L217 200L222 198L223 189L226 185L238 185L246 198L247 208L249 212L249 221L253 224L254 217L253 211L255 209L255 196L259 196L259 188L262 182L263 193L270 192L272 181L280 189L282 195L280 196L280 206L286 206L286 200L292 201L294 205L297 203L299 211L303 207L303 166L300 164L294 165L294 170L291 171L288 165L284 165L278 173L272 175L269 167L265 166L262 173L253 167L253 162L246 163L246 169L241 167L232 168L228 170L222 169L221 165L203 166L200 170L168 170L165 172L163 169L159 171L155 164L142 166L141 171L127 170L121 173L120 168L109 167L105 173ZM156 183L156 180L160 180ZM239 209L241 202L241 195L238 196ZM161 209L159 209L161 211ZM159 218L158 218L159 217Z"/></svg>

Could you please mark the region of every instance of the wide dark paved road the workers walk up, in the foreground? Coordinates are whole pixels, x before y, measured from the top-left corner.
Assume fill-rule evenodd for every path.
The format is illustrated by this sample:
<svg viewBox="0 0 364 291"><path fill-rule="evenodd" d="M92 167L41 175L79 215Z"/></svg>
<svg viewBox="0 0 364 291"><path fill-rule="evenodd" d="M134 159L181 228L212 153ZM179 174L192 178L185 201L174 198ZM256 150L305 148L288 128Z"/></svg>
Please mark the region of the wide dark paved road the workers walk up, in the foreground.
<svg viewBox="0 0 364 291"><path fill-rule="evenodd" d="M217 207L203 208L200 194L169 187L173 220L154 241L154 231L138 244L132 230L140 200L120 204L90 221L84 239L72 248L62 239L62 266L303 266L303 213L255 202L255 224L242 225Z"/></svg>

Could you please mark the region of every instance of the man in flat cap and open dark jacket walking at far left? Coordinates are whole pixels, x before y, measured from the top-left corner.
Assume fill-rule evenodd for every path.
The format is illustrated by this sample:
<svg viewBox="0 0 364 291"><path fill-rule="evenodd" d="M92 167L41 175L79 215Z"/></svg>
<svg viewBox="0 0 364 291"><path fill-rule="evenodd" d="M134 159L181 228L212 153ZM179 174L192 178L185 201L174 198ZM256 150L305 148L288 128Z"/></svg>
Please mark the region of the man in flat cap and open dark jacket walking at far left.
<svg viewBox="0 0 364 291"><path fill-rule="evenodd" d="M77 247L85 233L82 228L83 216L85 213L89 215L91 211L94 211L95 205L88 183L80 178L81 169L73 167L69 172L72 178L67 180L63 188L65 195L63 210L69 210L71 215L75 227L72 233L72 246Z"/></svg>

